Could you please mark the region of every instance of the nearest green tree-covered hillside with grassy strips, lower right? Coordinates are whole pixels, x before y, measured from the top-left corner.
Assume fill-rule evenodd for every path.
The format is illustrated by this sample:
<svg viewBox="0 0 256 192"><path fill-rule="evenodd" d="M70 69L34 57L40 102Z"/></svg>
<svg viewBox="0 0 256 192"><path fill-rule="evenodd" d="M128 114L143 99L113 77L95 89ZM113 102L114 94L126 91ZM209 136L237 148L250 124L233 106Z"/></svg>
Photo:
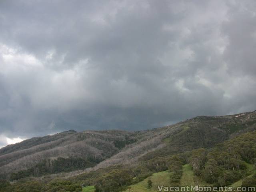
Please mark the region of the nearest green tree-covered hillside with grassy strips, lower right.
<svg viewBox="0 0 256 192"><path fill-rule="evenodd" d="M185 155L186 156L186 155ZM157 186L240 186L256 185L256 130L240 134L215 147L200 148L184 155L178 154L167 160L168 171L146 177L127 187L125 192L158 190ZM183 164L183 165L182 165ZM164 178L162 176L165 176ZM152 188L148 189L148 180Z"/></svg>

